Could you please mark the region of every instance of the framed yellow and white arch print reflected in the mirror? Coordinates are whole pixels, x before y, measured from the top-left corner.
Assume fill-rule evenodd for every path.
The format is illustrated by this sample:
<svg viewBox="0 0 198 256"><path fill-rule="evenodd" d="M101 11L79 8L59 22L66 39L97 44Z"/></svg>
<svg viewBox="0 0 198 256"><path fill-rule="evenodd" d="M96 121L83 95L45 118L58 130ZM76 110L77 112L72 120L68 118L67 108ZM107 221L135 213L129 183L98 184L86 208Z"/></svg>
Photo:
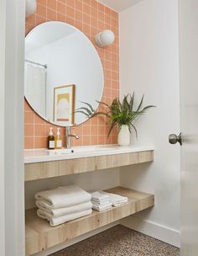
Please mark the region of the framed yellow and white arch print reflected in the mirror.
<svg viewBox="0 0 198 256"><path fill-rule="evenodd" d="M54 121L60 125L74 125L75 84L54 88Z"/></svg>

